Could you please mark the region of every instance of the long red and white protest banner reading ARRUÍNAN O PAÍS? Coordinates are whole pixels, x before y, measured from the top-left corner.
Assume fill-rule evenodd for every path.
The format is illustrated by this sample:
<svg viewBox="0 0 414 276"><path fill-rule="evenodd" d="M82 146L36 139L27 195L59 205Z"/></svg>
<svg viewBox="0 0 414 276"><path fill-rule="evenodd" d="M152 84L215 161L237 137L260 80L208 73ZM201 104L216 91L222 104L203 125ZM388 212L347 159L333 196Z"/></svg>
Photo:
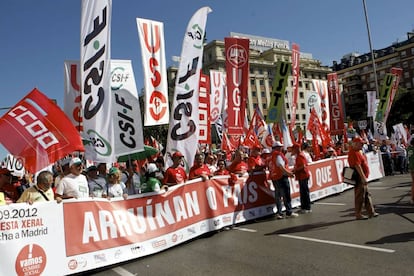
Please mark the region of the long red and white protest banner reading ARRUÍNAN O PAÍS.
<svg viewBox="0 0 414 276"><path fill-rule="evenodd" d="M379 154L368 154L370 180L383 176ZM342 182L347 157L309 165L311 200L351 188ZM292 205L299 183L290 179ZM225 226L276 212L266 174L233 182L195 179L167 192L127 200L68 200L0 207L0 275L73 274L154 254Z"/></svg>

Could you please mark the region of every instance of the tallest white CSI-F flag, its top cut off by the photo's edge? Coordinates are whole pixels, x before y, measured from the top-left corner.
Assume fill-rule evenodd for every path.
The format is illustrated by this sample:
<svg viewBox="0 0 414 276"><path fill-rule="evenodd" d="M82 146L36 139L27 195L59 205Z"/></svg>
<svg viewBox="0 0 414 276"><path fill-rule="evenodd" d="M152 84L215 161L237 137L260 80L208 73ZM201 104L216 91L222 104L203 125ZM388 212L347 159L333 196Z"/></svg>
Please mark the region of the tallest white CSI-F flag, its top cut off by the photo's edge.
<svg viewBox="0 0 414 276"><path fill-rule="evenodd" d="M116 161L110 87L111 0L82 1L80 61L85 158Z"/></svg>

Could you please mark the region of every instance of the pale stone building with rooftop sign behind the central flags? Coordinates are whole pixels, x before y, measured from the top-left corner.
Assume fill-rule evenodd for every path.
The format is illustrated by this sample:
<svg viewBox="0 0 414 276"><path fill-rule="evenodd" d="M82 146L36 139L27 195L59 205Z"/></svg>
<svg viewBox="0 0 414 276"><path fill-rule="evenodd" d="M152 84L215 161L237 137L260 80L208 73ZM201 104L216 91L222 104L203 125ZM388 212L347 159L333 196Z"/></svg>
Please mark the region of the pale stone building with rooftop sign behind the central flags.
<svg viewBox="0 0 414 276"><path fill-rule="evenodd" d="M285 40L265 38L253 35L231 33L232 37L249 38L250 57L249 57L249 85L247 91L247 116L251 119L256 107L259 107L263 115L267 116L268 105L270 102L272 84L275 76L278 61L292 62L292 51L289 42ZM203 66L204 74L209 75L210 70L225 72L225 48L224 41L213 40L204 46ZM312 80L326 80L327 74L332 69L322 66L319 60L313 59L311 54L300 53L300 76L299 76L299 95L296 113L296 126L305 128L306 118L306 93L314 91ZM177 68L168 68L169 87L173 92ZM289 76L288 86L285 92L286 119L291 120L290 98L293 90L293 77ZM171 96L170 96L171 99Z"/></svg>

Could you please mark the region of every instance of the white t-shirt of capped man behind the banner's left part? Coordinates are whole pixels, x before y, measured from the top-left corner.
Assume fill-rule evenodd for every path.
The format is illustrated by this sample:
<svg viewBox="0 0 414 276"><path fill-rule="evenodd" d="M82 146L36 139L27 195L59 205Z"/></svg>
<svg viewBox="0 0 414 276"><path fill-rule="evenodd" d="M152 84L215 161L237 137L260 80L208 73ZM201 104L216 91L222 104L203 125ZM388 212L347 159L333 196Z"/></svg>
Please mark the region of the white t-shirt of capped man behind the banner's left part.
<svg viewBox="0 0 414 276"><path fill-rule="evenodd" d="M56 187L56 194L64 197L87 198L89 197L89 186L86 176L83 174L66 175Z"/></svg>

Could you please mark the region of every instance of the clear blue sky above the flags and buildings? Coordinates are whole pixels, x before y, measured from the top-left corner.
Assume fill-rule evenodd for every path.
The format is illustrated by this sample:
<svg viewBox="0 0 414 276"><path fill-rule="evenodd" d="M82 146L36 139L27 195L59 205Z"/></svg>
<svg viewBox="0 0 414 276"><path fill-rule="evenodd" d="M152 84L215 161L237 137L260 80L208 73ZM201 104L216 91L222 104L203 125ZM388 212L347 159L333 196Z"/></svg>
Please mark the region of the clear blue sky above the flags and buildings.
<svg viewBox="0 0 414 276"><path fill-rule="evenodd" d="M404 40L414 29L414 1L366 0L374 49ZM230 32L278 38L299 44L324 65L351 52L369 52L362 0L113 0L111 56L132 60L137 87L143 87L135 19L164 23L166 60L181 54L184 31L203 6L207 41ZM80 0L0 1L0 107L11 107L34 87L63 106L63 62L80 55ZM0 110L3 115L6 110ZM7 151L0 145L0 158Z"/></svg>

